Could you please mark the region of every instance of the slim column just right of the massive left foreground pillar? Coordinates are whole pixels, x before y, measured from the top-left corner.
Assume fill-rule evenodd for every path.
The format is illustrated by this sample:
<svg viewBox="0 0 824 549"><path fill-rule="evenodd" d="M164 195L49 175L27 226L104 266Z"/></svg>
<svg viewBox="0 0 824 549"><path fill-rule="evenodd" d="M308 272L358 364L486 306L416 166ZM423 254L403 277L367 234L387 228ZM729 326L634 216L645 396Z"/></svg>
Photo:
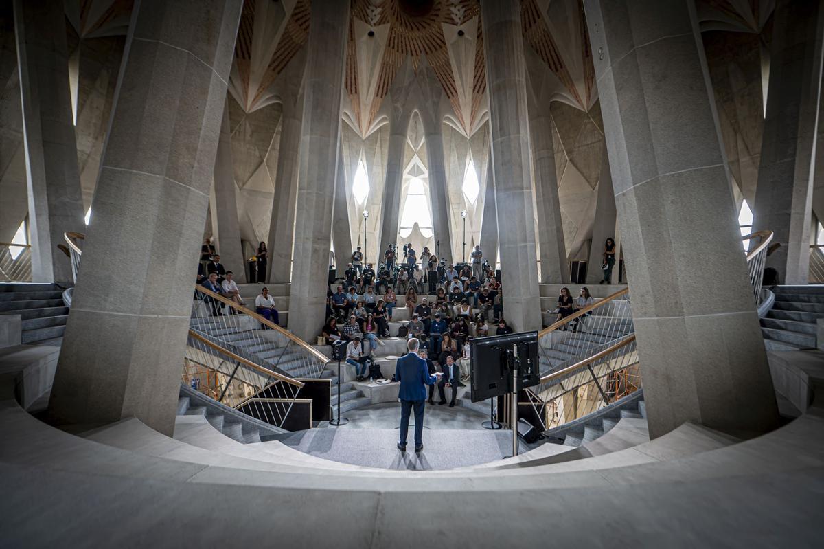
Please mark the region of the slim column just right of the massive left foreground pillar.
<svg viewBox="0 0 824 549"><path fill-rule="evenodd" d="M218 253L220 262L235 274L238 284L246 282L246 261L241 244L241 226L237 220L235 172L232 169L232 136L229 106L224 102L223 119L214 161L214 206L218 217ZM252 242L257 246L257 242Z"/></svg>

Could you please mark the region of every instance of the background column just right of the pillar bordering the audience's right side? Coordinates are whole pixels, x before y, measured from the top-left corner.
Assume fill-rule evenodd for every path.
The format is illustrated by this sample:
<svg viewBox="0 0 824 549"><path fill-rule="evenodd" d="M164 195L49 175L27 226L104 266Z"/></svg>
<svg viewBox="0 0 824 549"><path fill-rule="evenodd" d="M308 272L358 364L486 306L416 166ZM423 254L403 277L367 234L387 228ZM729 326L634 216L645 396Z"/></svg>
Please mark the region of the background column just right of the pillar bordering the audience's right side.
<svg viewBox="0 0 824 549"><path fill-rule="evenodd" d="M530 101L529 109L532 162L535 164L538 242L541 249L541 282L563 284L569 282L569 267L558 199L558 174L555 171L550 106L547 104L541 109L534 101Z"/></svg>

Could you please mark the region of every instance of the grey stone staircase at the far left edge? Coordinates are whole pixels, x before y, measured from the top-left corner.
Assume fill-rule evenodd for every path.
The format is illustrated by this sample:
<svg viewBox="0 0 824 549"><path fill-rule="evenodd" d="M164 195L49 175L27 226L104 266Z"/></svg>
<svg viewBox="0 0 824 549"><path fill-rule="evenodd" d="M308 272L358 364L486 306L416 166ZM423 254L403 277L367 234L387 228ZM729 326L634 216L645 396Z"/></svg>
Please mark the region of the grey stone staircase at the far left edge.
<svg viewBox="0 0 824 549"><path fill-rule="evenodd" d="M0 314L20 315L21 343L60 345L68 307L56 284L0 284Z"/></svg>

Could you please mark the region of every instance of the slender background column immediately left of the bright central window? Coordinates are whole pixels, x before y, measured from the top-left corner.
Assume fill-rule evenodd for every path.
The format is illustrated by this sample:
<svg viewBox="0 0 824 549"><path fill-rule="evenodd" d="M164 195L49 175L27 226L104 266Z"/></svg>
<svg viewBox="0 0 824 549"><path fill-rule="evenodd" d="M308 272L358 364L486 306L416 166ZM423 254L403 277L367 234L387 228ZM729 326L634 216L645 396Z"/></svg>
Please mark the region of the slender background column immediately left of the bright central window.
<svg viewBox="0 0 824 549"><path fill-rule="evenodd" d="M390 122L391 134L389 135L389 148L387 148L386 153L386 180L383 185L381 246L377 250L377 260L383 260L383 252L386 251L386 247L395 244L398 240L400 190L404 184L404 149L409 123L410 112L407 110L401 110L396 116L392 117Z"/></svg>

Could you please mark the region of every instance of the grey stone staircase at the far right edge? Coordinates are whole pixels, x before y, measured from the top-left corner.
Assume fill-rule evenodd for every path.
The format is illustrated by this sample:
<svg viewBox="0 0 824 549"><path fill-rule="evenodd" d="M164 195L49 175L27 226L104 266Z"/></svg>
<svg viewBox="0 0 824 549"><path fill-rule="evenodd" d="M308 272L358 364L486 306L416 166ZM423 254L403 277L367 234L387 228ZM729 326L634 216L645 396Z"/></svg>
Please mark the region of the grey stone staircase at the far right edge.
<svg viewBox="0 0 824 549"><path fill-rule="evenodd" d="M816 348L816 322L824 317L824 285L775 286L775 303L761 318L766 350Z"/></svg>

